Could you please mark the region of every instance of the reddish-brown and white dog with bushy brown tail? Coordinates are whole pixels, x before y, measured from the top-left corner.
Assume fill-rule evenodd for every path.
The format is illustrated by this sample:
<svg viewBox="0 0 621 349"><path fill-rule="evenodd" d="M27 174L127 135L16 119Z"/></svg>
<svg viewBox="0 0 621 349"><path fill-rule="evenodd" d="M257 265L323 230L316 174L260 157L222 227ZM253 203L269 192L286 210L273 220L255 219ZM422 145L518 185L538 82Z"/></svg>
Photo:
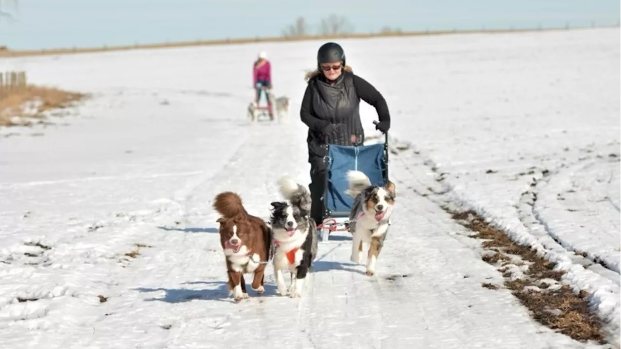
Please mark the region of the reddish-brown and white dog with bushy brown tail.
<svg viewBox="0 0 621 349"><path fill-rule="evenodd" d="M242 198L230 191L217 194L213 207L222 215L217 222L229 274L229 296L233 293L237 302L248 297L244 273L254 274L250 287L262 294L272 244L270 227L263 219L248 214Z"/></svg>

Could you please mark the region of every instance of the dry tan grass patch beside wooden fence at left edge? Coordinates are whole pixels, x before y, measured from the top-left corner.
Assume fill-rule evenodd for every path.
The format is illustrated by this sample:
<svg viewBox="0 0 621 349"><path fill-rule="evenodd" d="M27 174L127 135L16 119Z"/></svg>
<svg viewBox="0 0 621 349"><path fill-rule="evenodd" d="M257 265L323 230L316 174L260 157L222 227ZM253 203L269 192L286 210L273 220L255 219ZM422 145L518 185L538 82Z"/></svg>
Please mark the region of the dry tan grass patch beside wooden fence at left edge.
<svg viewBox="0 0 621 349"><path fill-rule="evenodd" d="M24 89L0 90L0 126L30 125L28 119L42 119L43 112L71 106L86 94L43 86L27 86ZM26 104L32 111L25 112ZM20 120L13 122L14 117Z"/></svg>

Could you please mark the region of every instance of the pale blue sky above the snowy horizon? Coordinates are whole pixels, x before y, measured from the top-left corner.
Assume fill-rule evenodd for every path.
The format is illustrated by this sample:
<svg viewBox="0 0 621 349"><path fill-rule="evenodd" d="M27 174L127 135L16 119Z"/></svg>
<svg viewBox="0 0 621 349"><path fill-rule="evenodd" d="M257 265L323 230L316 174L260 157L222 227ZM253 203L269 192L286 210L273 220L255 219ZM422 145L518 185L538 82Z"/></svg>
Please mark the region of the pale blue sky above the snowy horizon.
<svg viewBox="0 0 621 349"><path fill-rule="evenodd" d="M101 47L226 37L276 36L296 17L315 27L330 14L356 32L613 25L621 0L0 0L0 45L14 49Z"/></svg>

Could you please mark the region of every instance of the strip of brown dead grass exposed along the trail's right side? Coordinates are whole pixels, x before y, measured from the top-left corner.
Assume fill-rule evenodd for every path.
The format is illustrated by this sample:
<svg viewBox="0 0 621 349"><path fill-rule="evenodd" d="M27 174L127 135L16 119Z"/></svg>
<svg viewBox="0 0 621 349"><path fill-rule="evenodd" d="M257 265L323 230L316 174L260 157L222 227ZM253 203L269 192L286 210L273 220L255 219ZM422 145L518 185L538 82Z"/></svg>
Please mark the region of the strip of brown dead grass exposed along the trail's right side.
<svg viewBox="0 0 621 349"><path fill-rule="evenodd" d="M565 272L554 270L555 263L538 256L528 247L512 242L507 234L487 224L476 212L450 213L453 214L453 219L476 233L473 237L485 240L482 243L483 248L493 253L484 256L483 260L499 268L505 278L505 288L510 289L532 312L533 319L574 340L607 343L601 320L589 310L585 299L587 292L582 290L576 294L569 286L561 283ZM528 265L523 274L514 274L510 271L512 268L509 268L524 264L512 262L518 257ZM551 288L551 280L556 281L556 287ZM482 286L497 289L493 284Z"/></svg>

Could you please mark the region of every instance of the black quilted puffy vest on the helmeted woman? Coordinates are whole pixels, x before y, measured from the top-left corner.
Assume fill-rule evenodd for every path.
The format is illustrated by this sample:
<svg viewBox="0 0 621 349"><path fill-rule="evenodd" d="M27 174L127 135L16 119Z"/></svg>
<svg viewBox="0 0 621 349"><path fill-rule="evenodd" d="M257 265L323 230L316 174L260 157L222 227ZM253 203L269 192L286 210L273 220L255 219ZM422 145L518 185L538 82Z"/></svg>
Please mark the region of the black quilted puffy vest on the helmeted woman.
<svg viewBox="0 0 621 349"><path fill-rule="evenodd" d="M343 71L335 84L325 82L321 75L309 80L312 91L311 114L317 119L337 125L338 132L325 136L309 129L309 161L321 161L325 143L354 145L365 140L360 120L360 98L353 85L353 73Z"/></svg>

